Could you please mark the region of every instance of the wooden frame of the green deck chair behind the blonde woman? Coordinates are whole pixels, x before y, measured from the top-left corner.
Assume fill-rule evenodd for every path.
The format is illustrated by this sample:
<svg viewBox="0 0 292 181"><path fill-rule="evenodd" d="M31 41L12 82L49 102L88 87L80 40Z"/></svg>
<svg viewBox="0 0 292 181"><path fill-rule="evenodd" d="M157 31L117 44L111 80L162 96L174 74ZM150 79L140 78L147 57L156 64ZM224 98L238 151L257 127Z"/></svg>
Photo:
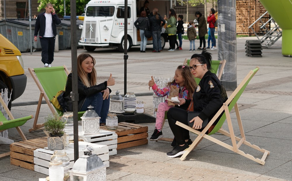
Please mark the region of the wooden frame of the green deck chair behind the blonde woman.
<svg viewBox="0 0 292 181"><path fill-rule="evenodd" d="M63 67L64 67L64 70L65 70L66 74L68 75L69 71L68 71L67 67L65 65L63 65ZM46 95L41 83L39 82L39 79L36 77L36 75L34 73L34 69L33 68L28 68L28 71L32 75L32 78L34 79L34 82L36 83L37 87L39 88L39 91L41 92L40 95L39 95L39 102L38 102L38 105L37 105L37 108L36 108L36 115L35 115L35 118L34 118L34 124L33 124L32 128L29 129L29 132L32 132L34 130L38 130L38 129L41 129L42 127L44 127L44 123L43 124L37 124L37 120L39 118L39 111L41 109L41 102L42 102L43 98L45 99L48 107L50 108L50 110L51 110L51 112L53 114L55 114L56 110L55 110L54 106L51 104L51 101L49 100L48 96Z"/></svg>

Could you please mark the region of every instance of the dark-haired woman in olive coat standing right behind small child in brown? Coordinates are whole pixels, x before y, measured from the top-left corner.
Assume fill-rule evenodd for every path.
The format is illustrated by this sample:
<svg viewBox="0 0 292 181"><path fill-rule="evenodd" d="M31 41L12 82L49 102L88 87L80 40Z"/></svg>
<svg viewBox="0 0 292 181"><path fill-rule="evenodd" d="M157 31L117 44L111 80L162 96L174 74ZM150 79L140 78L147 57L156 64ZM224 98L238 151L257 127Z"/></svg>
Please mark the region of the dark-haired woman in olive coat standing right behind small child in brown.
<svg viewBox="0 0 292 181"><path fill-rule="evenodd" d="M206 40L205 40L205 35L208 33L207 32L207 22L206 18L200 13L200 11L197 11L195 13L196 17L198 18L198 24L195 25L196 27L199 28L199 38L200 38L200 47L197 48L198 50L206 50ZM203 43L203 48L202 48L202 43Z"/></svg>

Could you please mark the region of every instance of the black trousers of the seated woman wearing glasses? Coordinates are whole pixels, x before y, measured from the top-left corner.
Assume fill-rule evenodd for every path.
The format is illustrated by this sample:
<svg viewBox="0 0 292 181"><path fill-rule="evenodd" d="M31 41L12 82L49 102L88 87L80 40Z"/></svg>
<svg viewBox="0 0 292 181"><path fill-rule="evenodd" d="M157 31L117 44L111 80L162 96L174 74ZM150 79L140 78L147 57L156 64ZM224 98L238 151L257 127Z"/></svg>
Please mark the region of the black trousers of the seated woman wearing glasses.
<svg viewBox="0 0 292 181"><path fill-rule="evenodd" d="M178 145L185 144L185 140L190 139L190 132L189 130L186 130L185 128L182 128L176 125L175 122L179 121L185 125L188 125L187 110L180 109L177 107L171 107L170 109L168 109L167 119L168 119L168 124L171 128L171 131Z"/></svg>

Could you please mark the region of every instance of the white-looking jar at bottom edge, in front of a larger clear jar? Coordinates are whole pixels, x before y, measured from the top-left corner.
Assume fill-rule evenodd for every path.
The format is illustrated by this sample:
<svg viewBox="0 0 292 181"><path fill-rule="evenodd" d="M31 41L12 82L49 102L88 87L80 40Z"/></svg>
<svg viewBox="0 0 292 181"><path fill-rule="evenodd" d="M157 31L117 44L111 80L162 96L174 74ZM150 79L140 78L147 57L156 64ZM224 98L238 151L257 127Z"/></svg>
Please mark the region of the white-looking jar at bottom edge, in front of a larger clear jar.
<svg viewBox="0 0 292 181"><path fill-rule="evenodd" d="M54 181L64 181L64 167L61 160L50 161L49 178Z"/></svg>

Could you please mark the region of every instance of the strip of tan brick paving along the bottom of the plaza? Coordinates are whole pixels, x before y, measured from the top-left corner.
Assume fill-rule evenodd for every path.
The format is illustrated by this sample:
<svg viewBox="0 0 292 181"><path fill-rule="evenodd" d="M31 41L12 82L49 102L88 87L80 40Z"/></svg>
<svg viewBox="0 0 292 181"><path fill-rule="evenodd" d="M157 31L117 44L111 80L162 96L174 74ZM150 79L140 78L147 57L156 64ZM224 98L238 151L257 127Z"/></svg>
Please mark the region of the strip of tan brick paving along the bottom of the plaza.
<svg viewBox="0 0 292 181"><path fill-rule="evenodd" d="M201 181L215 181L215 180L269 180L275 181L269 177L246 175L233 172L218 171L213 169L191 167L185 165L178 165L172 163L164 163L157 161L150 161L146 159L135 159L127 156L110 156L109 168L128 173L137 173L141 175L149 175L159 178L167 178L171 180L201 180ZM141 169L143 166L144 169ZM155 171L153 171L155 168ZM278 180L279 181L279 180Z"/></svg>

